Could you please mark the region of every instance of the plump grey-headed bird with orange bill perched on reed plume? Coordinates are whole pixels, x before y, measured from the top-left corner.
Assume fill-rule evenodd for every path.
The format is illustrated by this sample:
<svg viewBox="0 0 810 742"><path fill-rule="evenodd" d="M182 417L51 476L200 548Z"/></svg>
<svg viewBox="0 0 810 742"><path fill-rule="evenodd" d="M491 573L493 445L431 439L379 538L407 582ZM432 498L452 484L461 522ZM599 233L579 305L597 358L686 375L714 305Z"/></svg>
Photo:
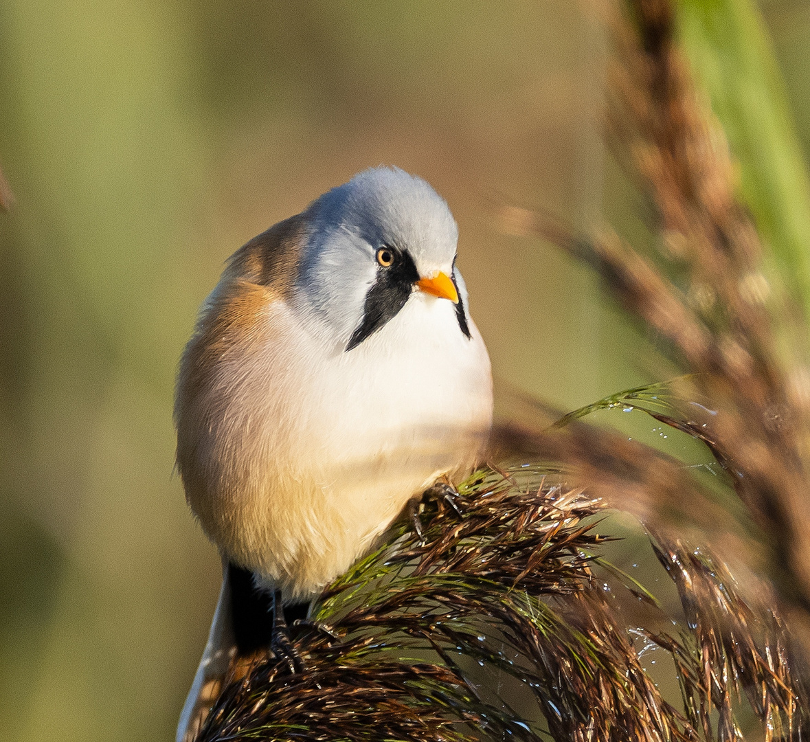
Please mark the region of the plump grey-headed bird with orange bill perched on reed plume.
<svg viewBox="0 0 810 742"><path fill-rule="evenodd" d="M271 612L306 607L482 460L492 373L457 245L427 181L369 168L238 249L204 301L177 373L177 469L224 578L177 742Z"/></svg>

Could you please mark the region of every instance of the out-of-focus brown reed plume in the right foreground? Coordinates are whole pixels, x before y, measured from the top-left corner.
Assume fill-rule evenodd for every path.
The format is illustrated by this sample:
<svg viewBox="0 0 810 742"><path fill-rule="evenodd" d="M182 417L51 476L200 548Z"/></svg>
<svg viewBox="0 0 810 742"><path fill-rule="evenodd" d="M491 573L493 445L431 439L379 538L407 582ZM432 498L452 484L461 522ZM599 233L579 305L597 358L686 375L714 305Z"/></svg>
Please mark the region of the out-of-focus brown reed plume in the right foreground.
<svg viewBox="0 0 810 742"><path fill-rule="evenodd" d="M723 130L699 99L675 43L676 5L633 0L627 15L610 19L616 48L609 69L610 141L654 206L659 254L642 256L607 230L585 237L544 215L512 210L507 216L595 267L625 309L665 339L671 357L690 373L679 383L684 402L658 419L704 441L730 475L761 534L748 559L755 571L765 561L783 615L810 646L804 296L783 291L791 282L763 271L763 246L735 195ZM780 290L772 291L774 283ZM528 437L537 454L595 465L599 471L585 477L591 486L622 467L645 469L624 475L633 486L629 493L617 490L612 501L654 527L663 525L662 512L679 505L681 513L701 514L702 527L709 527L706 516L718 515L709 516L694 484L659 456L649 470L638 450L618 441L612 443L617 450L606 452L602 441L590 438L587 445L567 446ZM656 484L650 479L658 468Z"/></svg>

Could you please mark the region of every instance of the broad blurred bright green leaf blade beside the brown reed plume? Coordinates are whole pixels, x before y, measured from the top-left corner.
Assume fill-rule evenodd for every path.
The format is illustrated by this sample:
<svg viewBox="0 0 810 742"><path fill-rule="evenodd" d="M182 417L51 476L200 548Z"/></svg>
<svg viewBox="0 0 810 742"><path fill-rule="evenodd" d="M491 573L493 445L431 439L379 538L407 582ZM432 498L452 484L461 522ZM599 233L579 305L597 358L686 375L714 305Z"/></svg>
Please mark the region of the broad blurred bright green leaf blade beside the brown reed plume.
<svg viewBox="0 0 810 742"><path fill-rule="evenodd" d="M752 0L679 0L681 46L740 164L769 268L810 317L810 178L765 22Z"/></svg>

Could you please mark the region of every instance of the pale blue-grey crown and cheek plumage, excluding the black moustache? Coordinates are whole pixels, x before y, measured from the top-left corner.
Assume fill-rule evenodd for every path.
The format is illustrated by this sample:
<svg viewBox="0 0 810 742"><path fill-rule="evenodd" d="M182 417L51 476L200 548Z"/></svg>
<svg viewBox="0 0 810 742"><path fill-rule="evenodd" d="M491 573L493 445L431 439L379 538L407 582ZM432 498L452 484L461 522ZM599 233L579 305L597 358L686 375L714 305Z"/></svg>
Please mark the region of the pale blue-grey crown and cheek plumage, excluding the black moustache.
<svg viewBox="0 0 810 742"><path fill-rule="evenodd" d="M399 168L371 168L327 191L304 212L308 238L296 305L310 326L345 343L377 278L377 249L407 251L420 276L450 272L458 227L444 198ZM456 274L458 276L458 272ZM459 292L463 281L458 279Z"/></svg>

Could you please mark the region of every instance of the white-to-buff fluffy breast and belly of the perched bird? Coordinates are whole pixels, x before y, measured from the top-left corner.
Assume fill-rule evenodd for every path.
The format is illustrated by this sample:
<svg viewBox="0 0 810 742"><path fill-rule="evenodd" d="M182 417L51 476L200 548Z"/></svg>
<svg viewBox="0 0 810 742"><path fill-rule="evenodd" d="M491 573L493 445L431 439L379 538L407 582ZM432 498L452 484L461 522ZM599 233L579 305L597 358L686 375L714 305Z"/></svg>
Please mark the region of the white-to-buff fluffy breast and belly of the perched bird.
<svg viewBox="0 0 810 742"><path fill-rule="evenodd" d="M348 569L437 476L475 463L492 378L475 324L467 339L454 305L420 292L350 352L326 351L283 301L262 326L207 392L217 421L197 455L211 484L189 499L230 558L299 599Z"/></svg>

